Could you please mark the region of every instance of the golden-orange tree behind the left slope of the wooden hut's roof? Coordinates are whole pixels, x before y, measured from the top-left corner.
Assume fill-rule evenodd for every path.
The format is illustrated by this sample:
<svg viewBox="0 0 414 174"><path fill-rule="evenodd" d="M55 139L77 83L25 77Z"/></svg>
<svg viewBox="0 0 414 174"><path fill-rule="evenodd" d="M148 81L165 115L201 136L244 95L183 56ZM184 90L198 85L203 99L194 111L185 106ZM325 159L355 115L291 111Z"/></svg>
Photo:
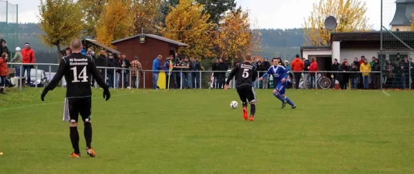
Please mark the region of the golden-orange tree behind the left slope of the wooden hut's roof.
<svg viewBox="0 0 414 174"><path fill-rule="evenodd" d="M98 20L97 41L110 45L111 41L131 36L134 31L132 1L106 0Z"/></svg>

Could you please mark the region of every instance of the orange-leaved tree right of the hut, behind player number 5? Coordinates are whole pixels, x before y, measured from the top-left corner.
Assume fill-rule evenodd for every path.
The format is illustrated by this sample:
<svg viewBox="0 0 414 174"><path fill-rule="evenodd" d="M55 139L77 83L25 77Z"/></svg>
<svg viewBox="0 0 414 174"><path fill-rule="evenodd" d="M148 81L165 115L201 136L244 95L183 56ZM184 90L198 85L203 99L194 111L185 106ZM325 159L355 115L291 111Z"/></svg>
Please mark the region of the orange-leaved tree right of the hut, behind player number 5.
<svg viewBox="0 0 414 174"><path fill-rule="evenodd" d="M260 33L251 29L253 23L248 19L248 14L248 10L243 11L239 7L221 19L215 39L217 54L224 58L240 58L259 51Z"/></svg>

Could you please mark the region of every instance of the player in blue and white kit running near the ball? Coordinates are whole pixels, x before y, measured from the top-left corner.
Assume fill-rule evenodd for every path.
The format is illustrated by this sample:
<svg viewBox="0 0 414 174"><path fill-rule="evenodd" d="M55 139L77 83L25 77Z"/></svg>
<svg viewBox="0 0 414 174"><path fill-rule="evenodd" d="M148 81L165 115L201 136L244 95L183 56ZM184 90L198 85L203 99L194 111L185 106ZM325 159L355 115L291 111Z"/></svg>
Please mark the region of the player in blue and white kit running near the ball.
<svg viewBox="0 0 414 174"><path fill-rule="evenodd" d="M266 76L273 74L273 81L276 82L277 87L275 90L273 90L273 96L275 96L277 99L282 101L282 109L286 107L286 103L288 103L290 106L292 106L292 109L296 108L296 105L290 101L290 99L285 95L285 89L287 86L286 78L289 76L289 71L286 69L286 67L279 65L277 58L272 59L273 66L271 66L268 69L268 72L263 74L259 80L263 80Z"/></svg>

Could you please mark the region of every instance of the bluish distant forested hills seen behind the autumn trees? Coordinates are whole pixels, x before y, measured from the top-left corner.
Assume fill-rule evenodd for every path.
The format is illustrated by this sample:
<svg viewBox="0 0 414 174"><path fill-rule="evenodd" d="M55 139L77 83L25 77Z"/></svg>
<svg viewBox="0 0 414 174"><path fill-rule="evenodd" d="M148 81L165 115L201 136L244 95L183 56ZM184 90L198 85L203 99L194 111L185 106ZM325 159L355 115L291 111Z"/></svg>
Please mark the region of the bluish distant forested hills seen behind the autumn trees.
<svg viewBox="0 0 414 174"><path fill-rule="evenodd" d="M18 29L18 45L30 43L34 50L37 63L56 63L56 50L43 45L36 34L41 33L35 23L21 23ZM0 37L5 38L6 25L0 25ZM284 60L293 60L295 54L299 54L299 47L304 44L304 31L302 28L294 29L261 29L262 51L257 56L276 57L281 56ZM8 30L9 36L13 35L13 30ZM6 40L7 41L7 40ZM12 46L12 47L10 47ZM10 50L14 50L15 44L9 45Z"/></svg>

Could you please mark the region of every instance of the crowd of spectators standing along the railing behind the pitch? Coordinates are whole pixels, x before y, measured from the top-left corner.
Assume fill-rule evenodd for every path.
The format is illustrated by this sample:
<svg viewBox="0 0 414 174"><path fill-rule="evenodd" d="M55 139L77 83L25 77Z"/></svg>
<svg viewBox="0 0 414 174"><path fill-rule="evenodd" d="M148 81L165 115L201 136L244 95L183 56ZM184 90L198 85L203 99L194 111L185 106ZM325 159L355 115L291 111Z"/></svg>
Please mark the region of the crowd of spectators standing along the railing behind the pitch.
<svg viewBox="0 0 414 174"><path fill-rule="evenodd" d="M10 52L4 39L0 39L0 43L0 94L5 94L5 87L14 86L6 78L9 74L7 63L35 63L35 56L30 43L26 43L23 49L16 47L14 52ZM63 56L71 54L69 49L65 51ZM106 76L109 87L115 89L121 87L139 88L139 81L144 74L144 69L137 56L132 58L132 61L128 61L126 54L112 54L101 50L99 55L96 55L92 50L86 50L86 47L83 47L81 53L91 56L97 67L110 67L110 69L99 68L101 76ZM10 58L12 54L14 56ZM184 56L178 58L176 54L175 56L170 55L165 61L162 59L163 57L159 55L152 62L153 89L159 89L157 84L159 73L165 73L166 75L166 89L171 87L175 89L197 89L201 87L200 72L204 70L204 67L197 57L188 58L188 56ZM282 61L282 58L279 57L275 59L277 59L279 65L284 66L290 71L287 79L288 88L313 89L317 87L315 81L320 78L318 74L331 79L331 88L335 88L336 81L338 81L340 89L380 89L381 87L385 89L408 89L412 87L410 85L414 81L412 58L407 56L402 58L400 54L397 54L397 58L393 63L390 60L384 60L384 63L381 63L375 56L371 58L371 61L368 61L368 58L365 58L365 56L355 57L352 62L348 62L348 59L344 58L342 63L339 63L335 58L331 65L330 73L317 72L318 65L315 57L311 57L311 60L308 60L307 58L299 58L299 54L297 54L291 63L289 61ZM211 65L213 73L211 74L210 87L216 89L224 88L226 76L228 76L230 69L237 64L235 62L233 65L229 65L224 61L224 58L215 58ZM263 76L270 68L271 60L269 61L266 56L262 61L259 58L254 58L253 65L257 67L258 75ZM15 76L26 75L26 85L30 85L32 81L30 71L32 68L33 65L16 65L14 66ZM274 87L276 84L271 85L269 83L271 81L270 78L273 78L273 75L267 76L260 82L256 80L252 85L262 89ZM94 87L95 79L93 77L90 83L91 87Z"/></svg>

